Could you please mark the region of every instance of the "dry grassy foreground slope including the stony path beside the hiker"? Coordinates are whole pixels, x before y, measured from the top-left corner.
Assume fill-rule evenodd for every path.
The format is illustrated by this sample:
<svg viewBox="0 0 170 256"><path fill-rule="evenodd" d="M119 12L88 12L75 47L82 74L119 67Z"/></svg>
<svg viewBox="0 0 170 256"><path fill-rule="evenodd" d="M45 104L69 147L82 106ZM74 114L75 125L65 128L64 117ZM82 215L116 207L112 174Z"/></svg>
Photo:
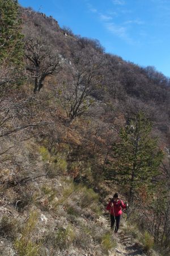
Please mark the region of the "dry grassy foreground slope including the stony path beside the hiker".
<svg viewBox="0 0 170 256"><path fill-rule="evenodd" d="M142 243L131 236L126 213L117 236L110 233L109 213L104 208L111 191L101 203L92 189L76 185L67 176L46 176L47 161L42 162L38 150L35 158L29 158L30 143L29 154L27 146L22 158L18 154L24 172L1 170L0 256L146 255ZM27 176L29 182L17 183ZM28 243L33 250L39 246L40 253L26 254ZM150 255L156 256L154 251Z"/></svg>

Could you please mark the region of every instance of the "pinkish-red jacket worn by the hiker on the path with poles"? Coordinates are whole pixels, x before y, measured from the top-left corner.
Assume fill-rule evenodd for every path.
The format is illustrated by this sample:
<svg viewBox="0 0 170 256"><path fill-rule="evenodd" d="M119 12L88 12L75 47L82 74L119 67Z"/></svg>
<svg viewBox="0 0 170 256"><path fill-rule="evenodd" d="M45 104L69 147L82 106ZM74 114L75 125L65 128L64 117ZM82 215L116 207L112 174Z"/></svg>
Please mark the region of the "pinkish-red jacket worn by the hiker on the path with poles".
<svg viewBox="0 0 170 256"><path fill-rule="evenodd" d="M113 207L111 207L112 203ZM109 210L113 216L120 216L122 214L121 208L125 209L126 204L124 204L124 202L120 199L117 202L112 199L111 201L109 201L106 209Z"/></svg>

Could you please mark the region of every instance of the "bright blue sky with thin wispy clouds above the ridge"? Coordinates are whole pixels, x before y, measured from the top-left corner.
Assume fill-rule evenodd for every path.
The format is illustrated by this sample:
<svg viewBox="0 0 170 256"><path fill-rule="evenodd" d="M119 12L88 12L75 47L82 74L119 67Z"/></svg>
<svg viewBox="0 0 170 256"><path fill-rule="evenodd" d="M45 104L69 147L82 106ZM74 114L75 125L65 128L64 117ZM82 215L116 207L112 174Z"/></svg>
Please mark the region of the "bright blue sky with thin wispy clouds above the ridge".
<svg viewBox="0 0 170 256"><path fill-rule="evenodd" d="M105 51L170 77L170 0L19 0Z"/></svg>

